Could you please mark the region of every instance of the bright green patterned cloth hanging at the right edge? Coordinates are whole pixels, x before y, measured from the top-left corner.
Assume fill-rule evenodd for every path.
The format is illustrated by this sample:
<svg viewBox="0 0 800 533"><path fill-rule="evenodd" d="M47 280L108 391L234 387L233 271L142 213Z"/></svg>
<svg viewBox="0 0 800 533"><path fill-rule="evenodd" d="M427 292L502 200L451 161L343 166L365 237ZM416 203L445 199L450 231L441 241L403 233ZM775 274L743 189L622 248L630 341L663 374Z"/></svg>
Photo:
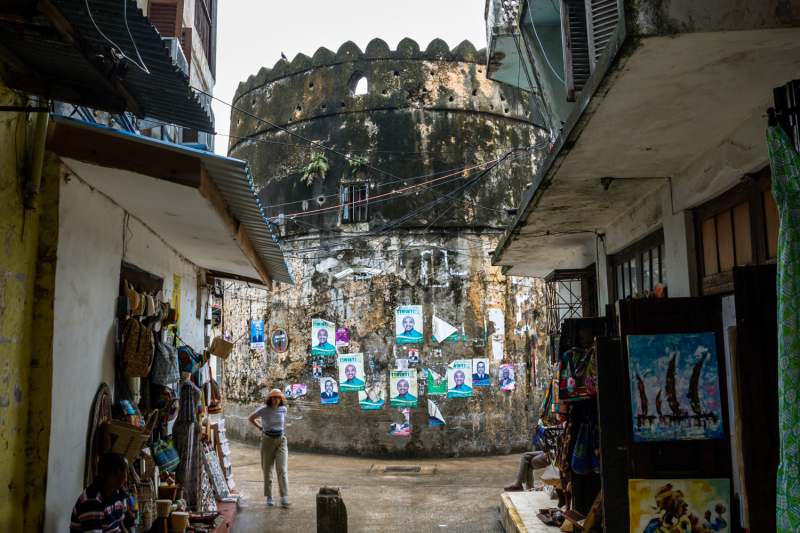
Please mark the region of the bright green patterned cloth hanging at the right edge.
<svg viewBox="0 0 800 533"><path fill-rule="evenodd" d="M778 533L800 532L800 157L780 126L767 128L778 202Z"/></svg>

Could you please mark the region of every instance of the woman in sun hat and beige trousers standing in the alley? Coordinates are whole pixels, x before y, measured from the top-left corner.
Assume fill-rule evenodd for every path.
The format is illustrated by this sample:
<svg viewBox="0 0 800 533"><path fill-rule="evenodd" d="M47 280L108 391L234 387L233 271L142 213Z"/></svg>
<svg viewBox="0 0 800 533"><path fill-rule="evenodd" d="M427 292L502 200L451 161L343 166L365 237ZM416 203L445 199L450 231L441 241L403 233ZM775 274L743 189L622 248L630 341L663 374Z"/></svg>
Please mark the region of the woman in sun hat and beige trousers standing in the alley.
<svg viewBox="0 0 800 533"><path fill-rule="evenodd" d="M281 504L288 507L289 501L289 475L287 463L289 448L286 436L283 434L283 422L286 419L286 397L278 389L272 389L267 394L266 405L256 409L248 420L261 430L261 471L264 473L264 496L267 505L275 505L272 499L272 465L278 472L278 486L281 490ZM256 419L261 418L260 424Z"/></svg>

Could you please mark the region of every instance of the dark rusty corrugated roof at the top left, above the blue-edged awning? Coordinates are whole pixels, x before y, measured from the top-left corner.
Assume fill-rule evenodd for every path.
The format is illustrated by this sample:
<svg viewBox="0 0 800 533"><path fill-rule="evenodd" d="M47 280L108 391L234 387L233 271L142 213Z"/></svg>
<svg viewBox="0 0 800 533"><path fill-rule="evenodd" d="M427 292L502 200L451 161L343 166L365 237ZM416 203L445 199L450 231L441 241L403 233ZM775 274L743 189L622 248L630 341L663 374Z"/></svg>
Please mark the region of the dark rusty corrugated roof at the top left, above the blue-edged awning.
<svg viewBox="0 0 800 533"><path fill-rule="evenodd" d="M91 17L86 0L51 2L92 50L108 55L114 48L133 59L122 60L127 72L120 81L141 109L144 116L139 118L214 132L210 108L189 88L189 77L173 65L160 34L135 0L88 0ZM8 77L13 88L114 113L125 110L125 100L41 13L28 20L0 18L0 45L6 48L0 48L0 58L12 68L23 65L22 72ZM9 61L8 52L15 60ZM140 56L149 73L134 64ZM27 82L20 82L23 79ZM69 98L73 92L75 98Z"/></svg>

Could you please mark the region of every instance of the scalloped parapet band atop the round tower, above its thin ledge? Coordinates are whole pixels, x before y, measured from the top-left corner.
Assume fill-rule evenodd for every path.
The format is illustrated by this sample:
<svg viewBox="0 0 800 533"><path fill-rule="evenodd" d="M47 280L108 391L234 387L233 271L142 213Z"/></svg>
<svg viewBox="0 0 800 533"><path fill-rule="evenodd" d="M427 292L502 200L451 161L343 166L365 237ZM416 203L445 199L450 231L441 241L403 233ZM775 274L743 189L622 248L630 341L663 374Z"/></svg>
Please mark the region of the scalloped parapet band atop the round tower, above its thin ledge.
<svg viewBox="0 0 800 533"><path fill-rule="evenodd" d="M291 62L282 59L271 69L262 68L239 84L233 103L282 127L342 113L404 108L490 113L541 124L530 94L486 78L484 56L469 41L451 50L434 39L424 51L408 38L396 50L381 39L373 39L364 51L348 41L335 53L323 47L312 57L297 54ZM356 95L363 77L368 92ZM237 136L270 129L236 111L231 122L231 134Z"/></svg>

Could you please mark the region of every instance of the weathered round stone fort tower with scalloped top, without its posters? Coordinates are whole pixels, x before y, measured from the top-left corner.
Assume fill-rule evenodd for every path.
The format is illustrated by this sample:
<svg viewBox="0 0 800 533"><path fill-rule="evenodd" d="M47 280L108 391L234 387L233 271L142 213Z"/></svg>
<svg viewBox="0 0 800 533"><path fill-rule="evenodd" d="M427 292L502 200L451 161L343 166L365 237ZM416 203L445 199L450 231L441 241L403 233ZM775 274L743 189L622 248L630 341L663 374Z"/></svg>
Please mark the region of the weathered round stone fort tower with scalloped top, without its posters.
<svg viewBox="0 0 800 533"><path fill-rule="evenodd" d="M313 58L301 54L240 84L235 105L242 110L351 156L364 155L380 171L362 166L353 172L346 159L327 153L326 179L307 186L300 169L320 152L233 111L230 155L250 163L267 216L287 217L279 227L297 284L280 285L272 293L226 284L223 327L234 340L244 335L223 371L231 437L258 438L245 418L268 389L307 383L308 396L290 402L287 435L293 449L452 456L530 447L541 395L533 383L532 335L544 338L543 287L531 279L504 277L490 266L488 251L506 227L505 209L519 203L515 194L531 181L541 152L504 162L463 198L457 188L468 179L458 173L425 188L376 198L453 169L484 165L476 169L483 170L513 149L546 142L530 95L505 92L488 81L481 57L468 42L450 51L436 40L420 52L409 39L397 51L376 39L363 53L346 43L336 54L324 48ZM354 95L351 89L361 76L367 77L369 92ZM352 182L369 186L368 222L342 221L341 187ZM444 194L453 197L396 222ZM304 214L319 209L327 210ZM347 269L352 272L343 274ZM420 350L420 362L413 365L420 370L420 402L411 409L411 435L398 437L389 434L389 424L402 421L396 407L361 410L356 393L340 394L337 405L320 405L311 375L311 319L350 328L350 346L343 351L363 352L368 381L388 384L394 360L407 357L409 346L394 342L394 310L406 304L423 305L425 342L411 346ZM434 312L463 326L466 340L432 342ZM277 327L288 332L286 352L249 349L248 321L258 318L264 318L267 333ZM537 352L543 358L543 346ZM454 359L474 357L488 357L493 374L497 365L514 363L517 390L500 391L494 377L490 387L476 387L472 398L431 396L447 425L429 427L422 369L443 372ZM324 376L336 377L332 361L327 358Z"/></svg>

